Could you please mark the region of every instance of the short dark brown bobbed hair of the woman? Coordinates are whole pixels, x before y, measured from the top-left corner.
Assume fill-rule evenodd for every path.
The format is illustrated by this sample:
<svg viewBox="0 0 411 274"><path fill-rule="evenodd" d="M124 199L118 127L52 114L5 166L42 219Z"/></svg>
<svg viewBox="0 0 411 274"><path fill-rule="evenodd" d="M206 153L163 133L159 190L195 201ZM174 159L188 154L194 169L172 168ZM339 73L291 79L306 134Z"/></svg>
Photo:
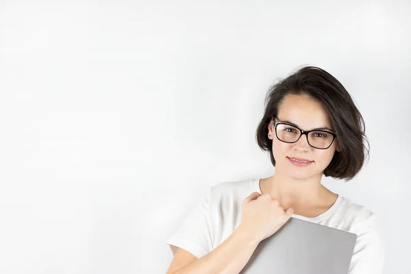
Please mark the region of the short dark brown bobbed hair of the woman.
<svg viewBox="0 0 411 274"><path fill-rule="evenodd" d="M303 66L285 79L279 79L266 94L264 116L256 130L256 141L263 151L269 151L275 166L273 143L268 138L269 123L278 114L286 95L308 95L323 104L337 134L340 151L324 170L325 177L350 180L362 169L365 156L369 156L369 142L360 111L343 84L316 66ZM365 155L366 152L366 155Z"/></svg>

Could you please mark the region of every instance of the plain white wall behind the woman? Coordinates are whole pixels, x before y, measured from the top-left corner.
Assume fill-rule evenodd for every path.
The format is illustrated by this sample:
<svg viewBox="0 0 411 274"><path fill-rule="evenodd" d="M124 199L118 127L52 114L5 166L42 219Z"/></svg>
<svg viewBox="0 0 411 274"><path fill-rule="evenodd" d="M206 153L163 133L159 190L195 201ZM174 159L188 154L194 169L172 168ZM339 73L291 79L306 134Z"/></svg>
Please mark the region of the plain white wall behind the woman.
<svg viewBox="0 0 411 274"><path fill-rule="evenodd" d="M356 179L324 184L382 219L385 273L411 273L410 7L0 1L0 272L165 273L204 190L273 173L266 90L312 64L371 143Z"/></svg>

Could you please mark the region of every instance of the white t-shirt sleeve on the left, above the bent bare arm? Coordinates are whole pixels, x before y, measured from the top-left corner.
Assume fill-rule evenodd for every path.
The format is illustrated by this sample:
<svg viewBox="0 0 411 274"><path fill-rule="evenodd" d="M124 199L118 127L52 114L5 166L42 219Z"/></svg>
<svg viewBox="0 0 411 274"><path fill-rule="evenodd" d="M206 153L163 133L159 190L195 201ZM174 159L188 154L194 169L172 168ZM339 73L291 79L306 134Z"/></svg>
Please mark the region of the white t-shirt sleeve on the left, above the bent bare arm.
<svg viewBox="0 0 411 274"><path fill-rule="evenodd" d="M177 229L167 240L167 245L175 253L174 247L185 249L197 258L212 250L210 229L210 191L204 195Z"/></svg>

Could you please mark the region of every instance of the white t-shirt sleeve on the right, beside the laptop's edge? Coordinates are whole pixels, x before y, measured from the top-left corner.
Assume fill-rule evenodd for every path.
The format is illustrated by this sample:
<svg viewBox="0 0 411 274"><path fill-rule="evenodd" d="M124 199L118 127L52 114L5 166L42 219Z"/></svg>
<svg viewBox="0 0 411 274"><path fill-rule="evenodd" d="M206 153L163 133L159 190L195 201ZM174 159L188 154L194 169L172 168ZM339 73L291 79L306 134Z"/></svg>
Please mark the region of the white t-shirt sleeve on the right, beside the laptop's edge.
<svg viewBox="0 0 411 274"><path fill-rule="evenodd" d="M384 252L382 227L372 214L358 234L348 274L382 274Z"/></svg>

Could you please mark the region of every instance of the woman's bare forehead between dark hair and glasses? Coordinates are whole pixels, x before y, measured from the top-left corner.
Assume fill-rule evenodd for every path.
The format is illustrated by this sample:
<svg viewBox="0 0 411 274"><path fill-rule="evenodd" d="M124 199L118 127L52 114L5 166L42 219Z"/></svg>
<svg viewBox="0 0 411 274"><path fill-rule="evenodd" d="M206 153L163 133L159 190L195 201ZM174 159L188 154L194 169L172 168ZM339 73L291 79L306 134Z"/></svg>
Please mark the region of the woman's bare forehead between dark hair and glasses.
<svg viewBox="0 0 411 274"><path fill-rule="evenodd" d="M279 104L277 119L290 121L306 130L318 127L333 129L323 104L307 95L286 95Z"/></svg>

